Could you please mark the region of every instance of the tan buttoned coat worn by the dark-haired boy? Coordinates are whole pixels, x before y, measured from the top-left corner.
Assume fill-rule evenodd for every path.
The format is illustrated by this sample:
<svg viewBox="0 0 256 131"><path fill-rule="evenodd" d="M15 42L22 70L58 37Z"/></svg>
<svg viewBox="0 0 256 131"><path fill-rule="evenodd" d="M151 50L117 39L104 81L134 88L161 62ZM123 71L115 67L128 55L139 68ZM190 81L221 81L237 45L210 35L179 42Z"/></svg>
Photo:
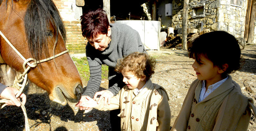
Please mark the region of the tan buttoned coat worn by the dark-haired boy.
<svg viewBox="0 0 256 131"><path fill-rule="evenodd" d="M202 83L197 79L191 84L171 131L247 131L250 109L256 111L256 108L231 76L228 75L223 84L197 103ZM205 121L209 117L211 119Z"/></svg>

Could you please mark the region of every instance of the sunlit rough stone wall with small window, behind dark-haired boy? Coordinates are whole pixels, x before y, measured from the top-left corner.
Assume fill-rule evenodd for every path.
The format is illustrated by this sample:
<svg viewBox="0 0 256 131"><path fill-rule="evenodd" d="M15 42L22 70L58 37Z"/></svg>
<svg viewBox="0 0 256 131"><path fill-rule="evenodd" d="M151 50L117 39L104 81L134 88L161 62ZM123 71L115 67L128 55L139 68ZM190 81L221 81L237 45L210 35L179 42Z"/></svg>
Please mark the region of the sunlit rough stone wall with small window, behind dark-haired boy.
<svg viewBox="0 0 256 131"><path fill-rule="evenodd" d="M173 0L173 28L182 27L183 4ZM230 0L191 0L188 9L187 28L204 28L227 31L235 37L244 38L247 1L240 5L230 4Z"/></svg>

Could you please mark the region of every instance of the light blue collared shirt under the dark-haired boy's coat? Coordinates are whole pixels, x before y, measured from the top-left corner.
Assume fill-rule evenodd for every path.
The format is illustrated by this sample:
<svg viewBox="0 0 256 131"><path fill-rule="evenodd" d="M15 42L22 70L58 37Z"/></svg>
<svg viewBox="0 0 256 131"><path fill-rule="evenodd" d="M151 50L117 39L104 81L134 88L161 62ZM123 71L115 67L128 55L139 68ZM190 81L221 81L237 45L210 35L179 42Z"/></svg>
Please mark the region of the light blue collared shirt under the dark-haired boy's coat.
<svg viewBox="0 0 256 131"><path fill-rule="evenodd" d="M228 78L228 76L227 76ZM215 83L215 84L212 84L212 85L209 85L208 86L208 89L207 91L205 92L206 88L205 88L205 80L203 80L203 85L202 85L202 89L201 89L201 93L200 93L200 96L199 96L199 102L203 101L204 98L206 98L209 94L211 94L215 89L217 89L221 84L223 84L227 78Z"/></svg>

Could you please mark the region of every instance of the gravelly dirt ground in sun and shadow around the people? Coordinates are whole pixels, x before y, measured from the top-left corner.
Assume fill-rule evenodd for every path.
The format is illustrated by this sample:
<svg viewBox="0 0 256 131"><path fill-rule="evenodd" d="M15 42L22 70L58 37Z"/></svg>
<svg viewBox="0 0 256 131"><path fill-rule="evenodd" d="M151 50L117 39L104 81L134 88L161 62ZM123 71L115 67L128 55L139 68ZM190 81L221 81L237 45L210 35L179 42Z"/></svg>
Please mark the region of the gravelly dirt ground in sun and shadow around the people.
<svg viewBox="0 0 256 131"><path fill-rule="evenodd" d="M197 78L192 68L193 59L186 51L161 48L160 51L148 51L157 60L157 68L152 76L153 83L165 87L171 108L171 126L173 125L190 84ZM245 46L242 51L245 65L231 74L242 88L245 96L256 102L256 45ZM87 82L83 82L86 86ZM108 87L108 81L102 80L101 90ZM46 93L40 88L29 87L26 109L31 131L111 131L109 111L93 109L88 113L80 111L75 103L58 106L49 102ZM20 107L8 106L0 110L1 131L25 131L24 115ZM256 119L251 117L248 131L256 131Z"/></svg>

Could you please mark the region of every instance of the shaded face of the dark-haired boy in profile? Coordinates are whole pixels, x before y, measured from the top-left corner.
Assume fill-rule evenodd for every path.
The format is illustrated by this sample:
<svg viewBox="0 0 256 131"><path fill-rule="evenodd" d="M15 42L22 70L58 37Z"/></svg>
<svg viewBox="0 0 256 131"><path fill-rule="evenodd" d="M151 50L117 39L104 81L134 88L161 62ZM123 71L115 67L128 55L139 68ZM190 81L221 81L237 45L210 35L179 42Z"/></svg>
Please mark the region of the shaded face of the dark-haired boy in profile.
<svg viewBox="0 0 256 131"><path fill-rule="evenodd" d="M212 84L220 81L220 72L222 69L218 66L214 66L213 63L203 55L200 56L200 62L195 60L192 67L196 71L197 79L206 80L207 83Z"/></svg>

